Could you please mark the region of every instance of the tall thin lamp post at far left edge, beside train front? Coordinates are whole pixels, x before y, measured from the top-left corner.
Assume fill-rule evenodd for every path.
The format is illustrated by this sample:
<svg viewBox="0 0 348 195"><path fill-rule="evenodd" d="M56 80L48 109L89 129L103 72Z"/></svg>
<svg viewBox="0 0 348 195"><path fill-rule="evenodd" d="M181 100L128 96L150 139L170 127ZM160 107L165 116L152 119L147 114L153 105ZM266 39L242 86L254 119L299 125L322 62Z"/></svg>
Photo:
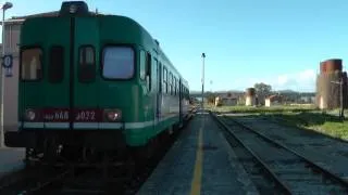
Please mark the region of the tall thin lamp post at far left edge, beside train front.
<svg viewBox="0 0 348 195"><path fill-rule="evenodd" d="M4 4L2 4L1 9L2 9L2 60L3 60L3 56L5 54L5 44L4 44L4 41L5 41L5 38L4 38L4 12L9 9L11 9L13 6L13 4L11 2L5 2ZM0 117L1 117L1 121L0 121L0 147L3 147L4 146L4 132L3 132L3 91L4 91L4 77L3 77L3 69L2 69L2 66L0 67L0 76L1 76L1 94L0 94L0 109L1 109L1 113L0 113Z"/></svg>

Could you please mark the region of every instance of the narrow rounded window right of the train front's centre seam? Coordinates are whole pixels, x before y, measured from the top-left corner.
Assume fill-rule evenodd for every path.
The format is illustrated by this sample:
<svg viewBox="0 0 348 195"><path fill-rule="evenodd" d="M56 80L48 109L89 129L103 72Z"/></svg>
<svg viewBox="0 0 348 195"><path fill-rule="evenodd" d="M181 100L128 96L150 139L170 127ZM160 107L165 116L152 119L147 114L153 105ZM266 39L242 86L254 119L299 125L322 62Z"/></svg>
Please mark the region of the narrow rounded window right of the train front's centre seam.
<svg viewBox="0 0 348 195"><path fill-rule="evenodd" d="M79 48L78 80L80 82L90 82L96 79L96 60L95 48L84 46Z"/></svg>

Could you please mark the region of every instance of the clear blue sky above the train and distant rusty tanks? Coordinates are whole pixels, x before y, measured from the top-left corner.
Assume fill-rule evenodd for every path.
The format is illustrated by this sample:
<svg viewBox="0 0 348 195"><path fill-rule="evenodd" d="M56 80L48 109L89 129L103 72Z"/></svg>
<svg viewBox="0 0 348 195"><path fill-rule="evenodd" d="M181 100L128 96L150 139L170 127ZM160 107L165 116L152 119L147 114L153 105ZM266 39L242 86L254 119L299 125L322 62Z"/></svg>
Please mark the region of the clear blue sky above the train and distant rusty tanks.
<svg viewBox="0 0 348 195"><path fill-rule="evenodd" d="M12 0L7 17L57 11L59 0ZM158 39L188 81L201 90L315 91L319 64L348 58L347 0L86 0L90 10L128 16Z"/></svg>

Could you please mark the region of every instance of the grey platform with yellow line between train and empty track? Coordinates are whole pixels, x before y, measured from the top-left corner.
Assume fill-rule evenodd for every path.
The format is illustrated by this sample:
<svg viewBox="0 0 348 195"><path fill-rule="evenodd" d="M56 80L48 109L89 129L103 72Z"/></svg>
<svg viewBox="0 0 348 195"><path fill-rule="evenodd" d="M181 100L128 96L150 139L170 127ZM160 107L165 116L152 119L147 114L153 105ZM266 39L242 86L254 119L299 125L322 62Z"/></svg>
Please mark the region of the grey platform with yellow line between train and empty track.
<svg viewBox="0 0 348 195"><path fill-rule="evenodd" d="M215 121L198 112L137 194L259 193Z"/></svg>

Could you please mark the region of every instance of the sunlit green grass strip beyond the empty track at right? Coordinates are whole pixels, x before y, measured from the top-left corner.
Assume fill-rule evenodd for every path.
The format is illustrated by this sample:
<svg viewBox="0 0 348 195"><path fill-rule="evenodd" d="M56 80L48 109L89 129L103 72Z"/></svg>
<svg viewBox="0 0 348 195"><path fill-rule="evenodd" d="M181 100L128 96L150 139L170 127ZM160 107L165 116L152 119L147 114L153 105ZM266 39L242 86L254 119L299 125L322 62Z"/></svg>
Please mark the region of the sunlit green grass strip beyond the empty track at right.
<svg viewBox="0 0 348 195"><path fill-rule="evenodd" d="M327 110L326 114L316 109L314 106L291 105L291 106L272 106L272 107L252 107L252 106L221 106L206 105L207 109L220 113L247 113L259 114L265 118L304 129L311 129L323 134L328 134L341 140L348 140L348 120L340 120L338 109ZM348 117L348 113L345 112Z"/></svg>

